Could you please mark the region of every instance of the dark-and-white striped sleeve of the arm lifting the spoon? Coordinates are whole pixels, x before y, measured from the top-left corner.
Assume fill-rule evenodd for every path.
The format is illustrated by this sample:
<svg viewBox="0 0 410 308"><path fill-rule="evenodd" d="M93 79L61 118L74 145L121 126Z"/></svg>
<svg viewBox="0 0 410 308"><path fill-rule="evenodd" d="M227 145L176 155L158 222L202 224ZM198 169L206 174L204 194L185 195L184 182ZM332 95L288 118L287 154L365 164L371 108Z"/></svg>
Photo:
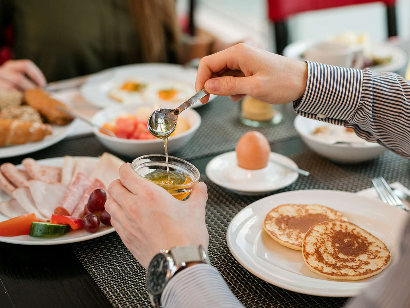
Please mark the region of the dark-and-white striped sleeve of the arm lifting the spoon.
<svg viewBox="0 0 410 308"><path fill-rule="evenodd" d="M307 85L294 101L300 115L354 129L410 158L410 83L394 73L307 61Z"/></svg>

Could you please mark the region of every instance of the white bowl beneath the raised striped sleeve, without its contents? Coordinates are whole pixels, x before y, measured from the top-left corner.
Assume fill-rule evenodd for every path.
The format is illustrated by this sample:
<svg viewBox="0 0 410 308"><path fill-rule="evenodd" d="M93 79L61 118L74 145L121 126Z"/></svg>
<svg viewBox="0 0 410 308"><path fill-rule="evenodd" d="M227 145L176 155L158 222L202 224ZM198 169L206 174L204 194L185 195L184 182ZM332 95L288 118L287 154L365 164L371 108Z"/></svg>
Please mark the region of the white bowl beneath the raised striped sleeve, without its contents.
<svg viewBox="0 0 410 308"><path fill-rule="evenodd" d="M294 120L295 129L306 145L314 152L327 157L331 161L338 163L360 163L374 159L386 151L386 148L378 143L366 142L363 144L332 145L312 135L312 132L318 126L326 125L332 124L302 117L301 115L296 116Z"/></svg>

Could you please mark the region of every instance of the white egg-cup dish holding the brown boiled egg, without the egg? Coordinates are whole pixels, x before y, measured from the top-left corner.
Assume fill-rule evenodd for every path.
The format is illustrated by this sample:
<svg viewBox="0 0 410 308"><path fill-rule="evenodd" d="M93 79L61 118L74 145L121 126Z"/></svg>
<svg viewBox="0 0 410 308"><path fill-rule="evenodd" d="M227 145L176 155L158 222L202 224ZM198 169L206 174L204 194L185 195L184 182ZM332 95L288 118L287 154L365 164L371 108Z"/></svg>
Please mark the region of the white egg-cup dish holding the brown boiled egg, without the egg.
<svg viewBox="0 0 410 308"><path fill-rule="evenodd" d="M286 156L271 152L268 165L263 169L248 170L240 168L236 152L227 152L213 158L206 166L207 177L218 184L242 195L260 195L286 187L298 178L298 172L276 165L278 161L290 167L298 168L296 163Z"/></svg>

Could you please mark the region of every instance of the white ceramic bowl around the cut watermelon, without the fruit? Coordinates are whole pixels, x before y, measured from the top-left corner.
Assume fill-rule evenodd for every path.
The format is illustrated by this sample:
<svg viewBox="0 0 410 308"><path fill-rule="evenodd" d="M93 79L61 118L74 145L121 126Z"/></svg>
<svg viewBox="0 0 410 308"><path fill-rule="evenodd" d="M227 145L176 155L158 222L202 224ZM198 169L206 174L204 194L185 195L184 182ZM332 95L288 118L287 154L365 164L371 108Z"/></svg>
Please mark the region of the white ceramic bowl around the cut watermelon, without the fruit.
<svg viewBox="0 0 410 308"><path fill-rule="evenodd" d="M162 106L162 104L125 104L117 105L112 107L104 108L98 111L92 118L93 123L102 126L106 122L114 120L124 114L134 114L135 111L140 107L152 108L152 111L158 108L169 108L167 106ZM189 123L189 129L178 135L172 136L168 139L168 153L175 152L182 145L187 143L189 139L194 136L195 131L201 124L201 117L194 109L184 110L179 116L181 119L185 119ZM106 134L100 133L98 129L93 129L94 134L98 140L112 151L123 154L130 157L138 157L146 154L164 154L164 143L162 139L148 139L148 140L135 140L135 139L125 139L108 136Z"/></svg>

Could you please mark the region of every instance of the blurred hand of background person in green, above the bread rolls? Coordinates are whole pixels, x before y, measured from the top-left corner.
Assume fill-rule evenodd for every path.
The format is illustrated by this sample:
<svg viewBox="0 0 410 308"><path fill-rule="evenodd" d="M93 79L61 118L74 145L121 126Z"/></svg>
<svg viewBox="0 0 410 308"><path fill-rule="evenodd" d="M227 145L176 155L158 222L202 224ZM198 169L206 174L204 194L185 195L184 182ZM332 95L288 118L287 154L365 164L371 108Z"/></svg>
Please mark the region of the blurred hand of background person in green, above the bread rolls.
<svg viewBox="0 0 410 308"><path fill-rule="evenodd" d="M25 91L46 83L43 73L31 60L8 60L0 65L0 88Z"/></svg>

